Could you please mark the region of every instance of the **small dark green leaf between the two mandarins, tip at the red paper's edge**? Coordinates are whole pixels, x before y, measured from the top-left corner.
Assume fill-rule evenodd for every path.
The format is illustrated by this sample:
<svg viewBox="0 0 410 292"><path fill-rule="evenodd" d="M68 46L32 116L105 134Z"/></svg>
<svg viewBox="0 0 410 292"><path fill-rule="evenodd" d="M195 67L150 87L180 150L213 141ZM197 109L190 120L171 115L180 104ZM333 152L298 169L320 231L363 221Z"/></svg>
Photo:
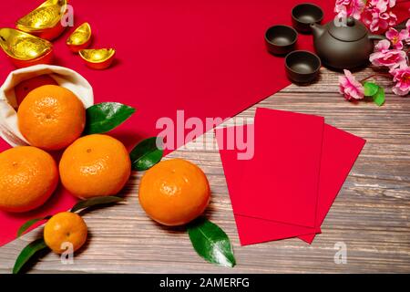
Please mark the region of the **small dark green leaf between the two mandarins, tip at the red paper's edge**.
<svg viewBox="0 0 410 292"><path fill-rule="evenodd" d="M157 145L159 138L152 137L141 141L129 153L134 171L143 172L149 170L152 166L161 161L164 151Z"/></svg>

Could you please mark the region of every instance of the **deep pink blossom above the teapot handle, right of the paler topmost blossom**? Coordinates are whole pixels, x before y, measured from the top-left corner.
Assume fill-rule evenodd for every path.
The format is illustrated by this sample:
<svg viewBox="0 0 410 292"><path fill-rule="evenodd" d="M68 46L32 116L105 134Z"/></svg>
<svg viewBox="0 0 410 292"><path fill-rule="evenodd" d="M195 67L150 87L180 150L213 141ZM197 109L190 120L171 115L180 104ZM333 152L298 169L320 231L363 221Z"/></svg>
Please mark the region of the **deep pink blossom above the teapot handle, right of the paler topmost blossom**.
<svg viewBox="0 0 410 292"><path fill-rule="evenodd" d="M379 8L370 6L364 9L362 21L370 31L384 33L387 28L395 26L397 16L393 12L382 12Z"/></svg>

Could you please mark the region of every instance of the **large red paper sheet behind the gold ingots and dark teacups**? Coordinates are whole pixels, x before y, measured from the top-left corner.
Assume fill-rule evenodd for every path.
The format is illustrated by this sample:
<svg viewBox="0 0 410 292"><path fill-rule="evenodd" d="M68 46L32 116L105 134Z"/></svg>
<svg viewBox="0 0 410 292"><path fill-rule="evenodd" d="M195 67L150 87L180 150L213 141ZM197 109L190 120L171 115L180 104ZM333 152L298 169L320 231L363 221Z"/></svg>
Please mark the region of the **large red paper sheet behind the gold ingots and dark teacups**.
<svg viewBox="0 0 410 292"><path fill-rule="evenodd" d="M56 65L75 69L91 83L96 102L114 100L138 109L115 133L129 146L159 132L160 117L229 118L289 85L283 57L265 48L264 32L291 25L292 6L303 0L71 0L76 26L90 23L92 47L115 47L112 68L86 68L65 41L55 44ZM313 0L333 16L333 1ZM42 0L1 1L0 27L31 11ZM311 36L300 48L312 49ZM13 70L0 54L0 80ZM181 145L179 145L181 146ZM1 149L5 146L1 145Z"/></svg>

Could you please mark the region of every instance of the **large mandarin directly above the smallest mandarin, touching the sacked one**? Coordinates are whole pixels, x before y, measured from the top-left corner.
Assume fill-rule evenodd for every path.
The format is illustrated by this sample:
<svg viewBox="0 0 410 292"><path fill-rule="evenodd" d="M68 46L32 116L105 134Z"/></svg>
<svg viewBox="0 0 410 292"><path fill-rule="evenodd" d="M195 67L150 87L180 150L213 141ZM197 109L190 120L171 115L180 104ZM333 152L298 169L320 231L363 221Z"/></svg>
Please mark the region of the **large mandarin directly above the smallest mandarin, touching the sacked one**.
<svg viewBox="0 0 410 292"><path fill-rule="evenodd" d="M115 195L128 182L131 161L125 146L108 135L88 135L68 146L61 158L61 182L81 199Z"/></svg>

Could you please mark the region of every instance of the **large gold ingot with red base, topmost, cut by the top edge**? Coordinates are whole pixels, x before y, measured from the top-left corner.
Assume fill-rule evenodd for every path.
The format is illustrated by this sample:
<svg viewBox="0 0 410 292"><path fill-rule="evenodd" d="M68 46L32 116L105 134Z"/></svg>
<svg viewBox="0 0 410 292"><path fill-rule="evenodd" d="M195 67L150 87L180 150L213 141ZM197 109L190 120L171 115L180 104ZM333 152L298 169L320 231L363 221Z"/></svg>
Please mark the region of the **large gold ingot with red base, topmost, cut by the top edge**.
<svg viewBox="0 0 410 292"><path fill-rule="evenodd" d="M15 26L32 35L52 40L66 27L61 18L67 11L67 0L46 0L28 15L18 19Z"/></svg>

